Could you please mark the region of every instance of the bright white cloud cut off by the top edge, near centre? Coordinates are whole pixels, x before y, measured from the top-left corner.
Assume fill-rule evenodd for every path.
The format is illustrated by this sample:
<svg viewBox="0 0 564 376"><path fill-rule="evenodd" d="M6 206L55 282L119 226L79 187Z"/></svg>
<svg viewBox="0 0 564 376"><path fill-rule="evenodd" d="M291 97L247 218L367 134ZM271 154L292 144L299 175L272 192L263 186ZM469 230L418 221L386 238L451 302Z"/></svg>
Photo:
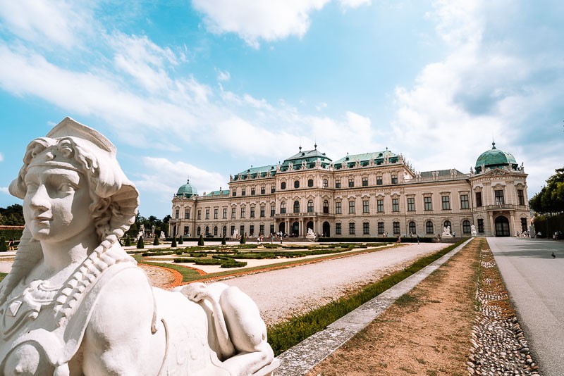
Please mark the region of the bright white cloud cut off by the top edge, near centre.
<svg viewBox="0 0 564 376"><path fill-rule="evenodd" d="M247 44L258 48L267 42L290 36L303 37L309 28L309 13L319 11L329 0L193 0L204 13L209 31L235 32Z"/></svg>

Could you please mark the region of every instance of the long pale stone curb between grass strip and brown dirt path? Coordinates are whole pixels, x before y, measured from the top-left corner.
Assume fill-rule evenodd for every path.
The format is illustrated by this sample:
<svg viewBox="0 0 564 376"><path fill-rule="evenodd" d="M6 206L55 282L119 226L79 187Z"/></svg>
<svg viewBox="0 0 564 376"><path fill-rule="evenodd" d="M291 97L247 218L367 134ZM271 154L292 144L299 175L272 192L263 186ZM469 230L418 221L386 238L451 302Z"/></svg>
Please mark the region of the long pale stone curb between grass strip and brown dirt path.
<svg viewBox="0 0 564 376"><path fill-rule="evenodd" d="M436 261L433 261L422 270L410 277L405 278L395 286L367 301L354 311L336 320L326 329L304 339L288 351L281 353L278 359L281 365L276 369L276 375L305 375L315 365L323 361L333 351L343 346L346 341L360 332L372 320L386 311L386 308L396 301L400 296L410 292L419 282L427 278L439 266L443 265L450 257L458 253L472 238L460 244L452 251L446 253Z"/></svg>

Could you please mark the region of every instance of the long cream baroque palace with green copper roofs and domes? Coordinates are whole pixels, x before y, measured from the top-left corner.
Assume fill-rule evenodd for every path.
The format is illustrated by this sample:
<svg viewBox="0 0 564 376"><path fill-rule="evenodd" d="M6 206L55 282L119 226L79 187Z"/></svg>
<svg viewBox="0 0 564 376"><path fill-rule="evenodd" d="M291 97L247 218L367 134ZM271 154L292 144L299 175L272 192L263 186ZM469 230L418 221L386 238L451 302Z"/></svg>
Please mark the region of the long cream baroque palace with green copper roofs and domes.
<svg viewBox="0 0 564 376"><path fill-rule="evenodd" d="M387 149L332 161L317 145L300 147L281 164L231 176L228 190L199 196L188 181L173 197L169 234L434 237L450 226L470 237L474 225L482 236L512 236L528 230L527 174L492 145L470 174L416 172Z"/></svg>

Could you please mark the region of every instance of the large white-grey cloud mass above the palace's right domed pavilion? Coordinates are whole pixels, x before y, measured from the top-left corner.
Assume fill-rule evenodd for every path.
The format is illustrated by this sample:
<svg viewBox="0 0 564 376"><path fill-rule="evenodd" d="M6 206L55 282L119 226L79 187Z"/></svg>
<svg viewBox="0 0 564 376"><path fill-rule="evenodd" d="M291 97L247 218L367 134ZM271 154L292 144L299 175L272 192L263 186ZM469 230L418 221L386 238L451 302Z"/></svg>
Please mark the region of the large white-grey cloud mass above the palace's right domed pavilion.
<svg viewBox="0 0 564 376"><path fill-rule="evenodd" d="M537 35L546 32L546 25L520 23L522 10L510 1L436 1L435 6L429 17L436 20L448 54L422 68L412 87L396 88L394 144L407 151L407 158L418 156L412 160L416 169L455 167L467 173L479 153L491 147L492 137L518 162L537 163L537 150L551 149L542 135L556 126L531 125L547 116L543 109L558 108L564 54L520 32ZM462 142L466 148L460 148ZM546 177L554 163L548 159ZM537 185L541 175L527 169L527 162L525 168L531 173L529 187Z"/></svg>

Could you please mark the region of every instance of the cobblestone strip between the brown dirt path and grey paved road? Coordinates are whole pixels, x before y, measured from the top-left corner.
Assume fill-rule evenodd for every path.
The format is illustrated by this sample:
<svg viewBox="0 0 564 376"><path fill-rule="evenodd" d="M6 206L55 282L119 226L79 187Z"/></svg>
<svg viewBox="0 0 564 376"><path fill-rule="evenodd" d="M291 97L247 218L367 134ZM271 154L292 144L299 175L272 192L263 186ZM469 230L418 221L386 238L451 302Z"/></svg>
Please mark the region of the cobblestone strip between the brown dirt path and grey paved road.
<svg viewBox="0 0 564 376"><path fill-rule="evenodd" d="M470 375L539 375L501 280L494 255L480 251L477 316L467 361Z"/></svg>

